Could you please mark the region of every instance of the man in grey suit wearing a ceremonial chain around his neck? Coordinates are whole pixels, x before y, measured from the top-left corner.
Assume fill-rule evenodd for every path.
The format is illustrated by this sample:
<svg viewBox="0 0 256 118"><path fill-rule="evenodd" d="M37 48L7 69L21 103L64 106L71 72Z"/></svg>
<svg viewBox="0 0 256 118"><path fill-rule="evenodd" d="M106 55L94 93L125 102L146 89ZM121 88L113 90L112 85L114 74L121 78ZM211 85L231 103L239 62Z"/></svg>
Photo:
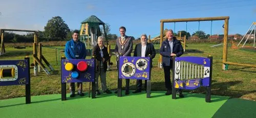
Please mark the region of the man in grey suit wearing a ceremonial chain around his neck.
<svg viewBox="0 0 256 118"><path fill-rule="evenodd" d="M116 47L115 47L115 54L117 56L117 68L118 68L118 57L119 56L131 56L131 53L133 51L133 38L131 36L126 36L125 27L119 28L120 37L116 39ZM126 85L125 85L125 95L129 95L130 92L130 79L125 79ZM115 91L117 93L117 90Z"/></svg>

